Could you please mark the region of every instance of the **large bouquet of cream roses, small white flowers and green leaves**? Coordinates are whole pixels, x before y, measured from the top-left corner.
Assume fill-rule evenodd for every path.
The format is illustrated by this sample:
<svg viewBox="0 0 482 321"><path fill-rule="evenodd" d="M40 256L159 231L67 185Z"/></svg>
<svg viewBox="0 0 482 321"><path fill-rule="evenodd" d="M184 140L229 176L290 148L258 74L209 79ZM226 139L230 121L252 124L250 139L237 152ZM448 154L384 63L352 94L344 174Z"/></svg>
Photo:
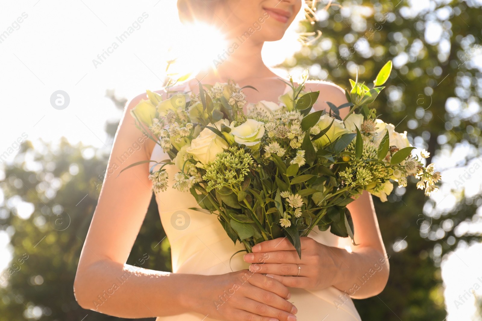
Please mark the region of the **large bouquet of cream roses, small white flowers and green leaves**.
<svg viewBox="0 0 482 321"><path fill-rule="evenodd" d="M329 113L311 110L320 92L304 91L308 72L298 86L290 79L292 90L279 103L247 103L243 89L254 88L232 80L200 84L199 94L171 93L167 99L147 90L148 100L131 113L170 156L151 168L153 191L166 190L173 180L173 188L198 202L192 209L216 214L229 238L248 252L286 236L301 257L300 236L315 227L353 240L347 205L364 190L386 201L392 181L406 186L413 176L430 195L441 179L433 164L423 167L412 154L407 133L396 132L369 107L390 71L388 62L370 86L358 76L350 79L349 103L328 103ZM344 119L342 108L349 108ZM179 170L173 178L166 165Z"/></svg>

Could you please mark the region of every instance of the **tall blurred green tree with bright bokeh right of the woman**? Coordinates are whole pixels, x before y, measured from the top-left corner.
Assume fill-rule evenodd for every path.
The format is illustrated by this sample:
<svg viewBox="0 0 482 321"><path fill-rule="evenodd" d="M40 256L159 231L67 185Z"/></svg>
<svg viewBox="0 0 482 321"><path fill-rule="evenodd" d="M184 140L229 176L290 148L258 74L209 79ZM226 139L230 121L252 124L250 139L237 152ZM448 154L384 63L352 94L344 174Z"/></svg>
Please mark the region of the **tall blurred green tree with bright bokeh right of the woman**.
<svg viewBox="0 0 482 321"><path fill-rule="evenodd" d="M439 158L465 146L469 153L458 167L480 160L482 65L475 58L481 55L481 2L347 0L321 10L323 2L319 21L304 30L319 30L321 37L282 66L291 74L308 68L315 79L349 89L357 69L369 83L393 60L387 88L375 102L383 120L409 131L415 147ZM480 220L480 191L453 194L454 205L443 204L443 210L413 183L396 189L387 203L375 201L391 270L383 293L355 300L363 320L445 318L442 256L481 239L480 233L455 232L461 223Z"/></svg>

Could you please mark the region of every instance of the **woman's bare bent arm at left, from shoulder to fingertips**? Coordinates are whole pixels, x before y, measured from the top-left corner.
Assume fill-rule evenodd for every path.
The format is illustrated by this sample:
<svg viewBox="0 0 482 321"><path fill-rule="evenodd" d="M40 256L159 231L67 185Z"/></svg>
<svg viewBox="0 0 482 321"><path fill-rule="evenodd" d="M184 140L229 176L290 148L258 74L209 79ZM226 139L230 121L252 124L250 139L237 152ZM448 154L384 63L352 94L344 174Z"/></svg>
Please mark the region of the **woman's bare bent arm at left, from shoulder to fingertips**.
<svg viewBox="0 0 482 321"><path fill-rule="evenodd" d="M148 163L122 168L150 157L154 142L134 126L129 104L120 122L94 217L87 233L74 292L82 308L123 318L176 315L189 311L218 320L287 321L295 313L280 282L246 270L222 275L194 275L139 269L125 264L151 199ZM120 164L122 162L122 164ZM243 279L244 278L244 279ZM243 282L245 280L245 282ZM239 289L227 302L220 295ZM261 303L256 297L263 298ZM222 301L221 301L222 303ZM270 306L268 308L268 305ZM251 319L250 319L251 318Z"/></svg>

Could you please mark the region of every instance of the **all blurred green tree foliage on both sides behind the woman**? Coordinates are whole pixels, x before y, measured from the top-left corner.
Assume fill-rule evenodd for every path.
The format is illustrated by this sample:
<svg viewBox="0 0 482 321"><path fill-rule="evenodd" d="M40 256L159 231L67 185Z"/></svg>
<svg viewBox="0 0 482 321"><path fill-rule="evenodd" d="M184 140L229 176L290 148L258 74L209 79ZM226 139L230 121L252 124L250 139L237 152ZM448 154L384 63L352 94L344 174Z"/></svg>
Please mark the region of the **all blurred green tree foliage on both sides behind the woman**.
<svg viewBox="0 0 482 321"><path fill-rule="evenodd" d="M282 67L292 73L309 68L311 77L347 88L357 68L362 80L371 81L393 60L387 88L376 102L379 114L397 125L397 131L407 130L412 144L431 155L442 157L442 152L467 146L470 152L455 164L464 168L479 157L482 144L481 2L413 2L410 7L399 0L343 1L343 8L332 5L326 11L320 3L320 21L304 27L306 32L321 30L321 37ZM112 91L107 94L124 108L125 99ZM111 138L117 125L106 124ZM80 321L87 315L88 321L120 320L80 308L72 292L108 154L66 140L40 145L34 149L25 142L14 162L3 168L0 228L11 238L12 264L25 255L28 264L0 285L0 321ZM481 173L474 175L482 178ZM478 219L482 194L477 190L467 196L463 187L452 192L450 188L448 184L445 193L453 194L455 205L438 212L432 210L435 201L416 191L413 182L392 193L387 203L375 199L390 278L380 295L354 300L363 320L446 318L442 259L461 242L481 240L480 231L460 234L454 229ZM19 200L34 206L28 219L16 215L13 204ZM170 271L170 246L164 236L153 198L127 263Z"/></svg>

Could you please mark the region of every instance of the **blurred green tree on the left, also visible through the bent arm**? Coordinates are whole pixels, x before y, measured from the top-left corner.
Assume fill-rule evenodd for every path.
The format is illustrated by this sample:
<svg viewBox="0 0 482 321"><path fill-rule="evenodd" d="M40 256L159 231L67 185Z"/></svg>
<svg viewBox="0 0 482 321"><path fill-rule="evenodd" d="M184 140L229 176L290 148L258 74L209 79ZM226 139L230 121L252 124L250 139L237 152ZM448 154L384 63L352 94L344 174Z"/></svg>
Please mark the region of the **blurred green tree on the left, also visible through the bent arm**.
<svg viewBox="0 0 482 321"><path fill-rule="evenodd" d="M116 105L126 103L113 93L109 97ZM117 129L117 125L107 128ZM80 250L109 153L82 144L72 146L65 139L58 145L39 142L35 148L26 141L13 164L4 168L0 227L11 237L13 261L6 271L13 273L4 273L6 277L0 279L0 321L80 321L87 315L85 321L128 320L84 310L73 294ZM164 236L152 198L127 263L170 271L170 246Z"/></svg>

